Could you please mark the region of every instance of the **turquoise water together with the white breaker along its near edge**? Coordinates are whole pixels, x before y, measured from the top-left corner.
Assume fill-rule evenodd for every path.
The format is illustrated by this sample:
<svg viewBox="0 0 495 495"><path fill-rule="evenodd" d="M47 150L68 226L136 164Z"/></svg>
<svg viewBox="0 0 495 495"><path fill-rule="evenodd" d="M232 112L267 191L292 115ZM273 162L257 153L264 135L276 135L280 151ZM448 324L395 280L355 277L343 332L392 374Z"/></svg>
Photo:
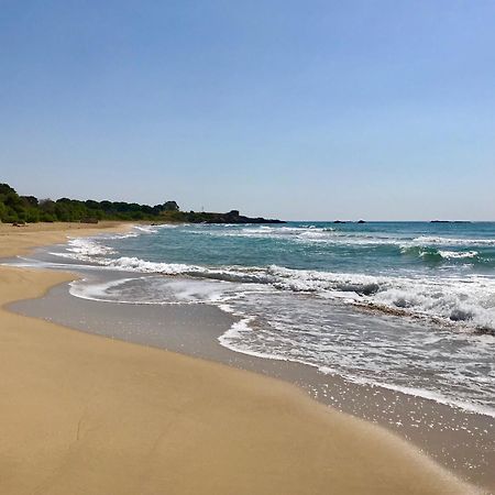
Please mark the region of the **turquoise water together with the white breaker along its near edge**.
<svg viewBox="0 0 495 495"><path fill-rule="evenodd" d="M116 250L110 258L134 268L145 261L146 271L346 296L479 330L495 328L494 223L193 224L109 246Z"/></svg>

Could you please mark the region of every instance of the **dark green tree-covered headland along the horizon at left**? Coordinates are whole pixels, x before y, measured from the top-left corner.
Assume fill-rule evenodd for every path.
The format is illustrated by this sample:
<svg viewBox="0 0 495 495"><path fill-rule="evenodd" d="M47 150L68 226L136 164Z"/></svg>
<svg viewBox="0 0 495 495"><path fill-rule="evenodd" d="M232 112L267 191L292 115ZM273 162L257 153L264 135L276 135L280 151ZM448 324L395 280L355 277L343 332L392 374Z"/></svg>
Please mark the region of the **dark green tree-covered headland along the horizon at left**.
<svg viewBox="0 0 495 495"><path fill-rule="evenodd" d="M88 199L61 198L37 199L34 196L19 196L8 184L0 184L0 221L3 223L32 222L84 222L99 220L150 221L154 223L285 223L282 220L250 218L238 210L228 213L207 211L180 211L176 201L162 205L139 205L124 201L95 201Z"/></svg>

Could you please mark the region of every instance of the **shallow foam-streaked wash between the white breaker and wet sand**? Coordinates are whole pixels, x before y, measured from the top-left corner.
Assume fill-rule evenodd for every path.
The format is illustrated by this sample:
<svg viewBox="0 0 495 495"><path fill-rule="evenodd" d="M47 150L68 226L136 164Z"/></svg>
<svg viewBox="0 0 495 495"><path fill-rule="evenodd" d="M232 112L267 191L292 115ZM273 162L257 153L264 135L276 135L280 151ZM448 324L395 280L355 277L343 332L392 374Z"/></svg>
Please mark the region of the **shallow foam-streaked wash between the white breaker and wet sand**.
<svg viewBox="0 0 495 495"><path fill-rule="evenodd" d="M308 364L356 383L494 415L493 337L371 319L334 304L295 297L299 296L273 293L229 302L222 309L241 322L220 343L244 354Z"/></svg>

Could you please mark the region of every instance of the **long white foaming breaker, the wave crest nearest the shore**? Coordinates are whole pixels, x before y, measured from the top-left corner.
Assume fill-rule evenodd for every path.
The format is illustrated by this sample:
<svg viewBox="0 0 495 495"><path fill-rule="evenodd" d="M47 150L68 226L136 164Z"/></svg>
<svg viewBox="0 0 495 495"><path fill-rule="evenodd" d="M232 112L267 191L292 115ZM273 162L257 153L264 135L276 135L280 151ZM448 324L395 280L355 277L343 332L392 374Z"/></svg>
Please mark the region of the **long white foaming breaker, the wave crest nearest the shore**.
<svg viewBox="0 0 495 495"><path fill-rule="evenodd" d="M406 277L375 276L294 270L277 265L267 267L207 267L183 263L156 263L139 257L109 257L109 249L92 241L72 244L67 255L90 260L112 270L157 273L168 276L206 278L241 284L271 285L278 290L310 293L324 298L340 298L377 309L430 317L450 324L495 330L495 280L482 276ZM441 253L425 252L443 258ZM469 257L473 253L466 253Z"/></svg>

